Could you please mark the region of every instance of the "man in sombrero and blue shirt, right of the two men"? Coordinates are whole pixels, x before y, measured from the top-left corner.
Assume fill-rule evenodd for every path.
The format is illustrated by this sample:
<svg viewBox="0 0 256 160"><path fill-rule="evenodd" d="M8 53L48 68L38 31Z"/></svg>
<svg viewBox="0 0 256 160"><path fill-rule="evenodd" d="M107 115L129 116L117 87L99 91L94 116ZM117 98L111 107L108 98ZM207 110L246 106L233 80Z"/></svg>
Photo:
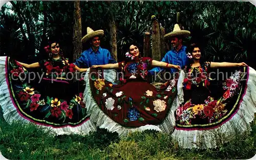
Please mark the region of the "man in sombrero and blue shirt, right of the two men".
<svg viewBox="0 0 256 160"><path fill-rule="evenodd" d="M167 33L164 35L164 38L170 38L170 42L173 46L173 49L168 51L164 58L162 59L162 62L166 62L169 64L179 65L181 68L183 68L187 62L188 58L186 55L186 46L182 45L182 39L187 37L190 34L189 31L181 30L179 24L174 25L173 32ZM152 75L159 72L160 68L156 67L150 71ZM171 68L170 73L175 73L177 70Z"/></svg>

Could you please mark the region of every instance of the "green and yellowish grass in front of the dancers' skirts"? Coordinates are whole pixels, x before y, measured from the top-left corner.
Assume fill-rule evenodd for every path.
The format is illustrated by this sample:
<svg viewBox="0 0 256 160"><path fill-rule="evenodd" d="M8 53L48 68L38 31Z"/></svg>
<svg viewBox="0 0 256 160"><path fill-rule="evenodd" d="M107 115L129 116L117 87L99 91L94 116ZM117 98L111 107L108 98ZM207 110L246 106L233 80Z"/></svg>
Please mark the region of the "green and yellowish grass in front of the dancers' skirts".
<svg viewBox="0 0 256 160"><path fill-rule="evenodd" d="M256 154L256 124L251 126L249 135L238 134L219 148L189 150L152 130L121 138L100 128L86 136L54 136L33 123L8 124L1 114L0 150L8 159L248 159Z"/></svg>

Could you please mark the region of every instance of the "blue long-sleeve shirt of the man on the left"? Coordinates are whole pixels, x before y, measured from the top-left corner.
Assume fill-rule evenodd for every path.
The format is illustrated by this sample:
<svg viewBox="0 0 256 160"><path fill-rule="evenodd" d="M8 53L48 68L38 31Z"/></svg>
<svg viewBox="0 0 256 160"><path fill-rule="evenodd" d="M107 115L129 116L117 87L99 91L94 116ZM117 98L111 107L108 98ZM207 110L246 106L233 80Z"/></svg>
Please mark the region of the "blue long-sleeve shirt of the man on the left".
<svg viewBox="0 0 256 160"><path fill-rule="evenodd" d="M99 47L97 52L94 52L90 47L82 52L81 57L77 59L74 64L79 68L89 68L93 65L104 65L109 63L116 63L116 61L112 58L108 49Z"/></svg>

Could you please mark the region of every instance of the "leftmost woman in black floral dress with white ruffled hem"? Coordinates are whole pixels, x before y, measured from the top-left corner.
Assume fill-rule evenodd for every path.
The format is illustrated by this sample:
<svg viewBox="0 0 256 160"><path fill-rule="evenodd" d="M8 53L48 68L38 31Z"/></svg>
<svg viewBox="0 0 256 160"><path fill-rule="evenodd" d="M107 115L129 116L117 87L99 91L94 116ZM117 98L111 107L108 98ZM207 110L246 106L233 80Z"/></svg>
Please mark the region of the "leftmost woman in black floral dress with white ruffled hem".
<svg viewBox="0 0 256 160"><path fill-rule="evenodd" d="M50 58L33 64L6 58L6 79L2 77L0 85L4 93L9 90L4 95L6 100L0 100L5 119L8 122L28 120L50 127L58 135L94 131L95 126L82 102L85 84L71 81L76 70L83 72L87 69L69 64L60 53L57 41L50 42L45 49ZM43 72L32 74L24 67L40 67ZM1 69L4 68L1 66Z"/></svg>

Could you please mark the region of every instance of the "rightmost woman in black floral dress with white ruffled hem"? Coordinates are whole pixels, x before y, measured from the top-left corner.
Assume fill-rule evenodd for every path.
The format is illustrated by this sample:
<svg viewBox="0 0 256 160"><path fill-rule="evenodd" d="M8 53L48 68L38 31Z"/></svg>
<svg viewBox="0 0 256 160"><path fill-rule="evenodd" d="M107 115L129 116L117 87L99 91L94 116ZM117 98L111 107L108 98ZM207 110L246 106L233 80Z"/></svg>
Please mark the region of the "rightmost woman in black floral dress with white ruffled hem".
<svg viewBox="0 0 256 160"><path fill-rule="evenodd" d="M253 80L256 72L243 62L204 63L196 44L191 44L189 52L190 64L179 78L183 81L184 96L178 93L180 105L175 113L176 126L172 137L183 148L215 148L218 143L232 138L232 124L239 131L250 127L249 122L256 111L256 95L255 92L252 94L250 87L256 85ZM234 68L236 72L225 79L223 87L218 88L211 86L210 76L216 73L211 73L210 69L220 67L239 68ZM217 142L220 141L217 135L223 136L222 142Z"/></svg>

